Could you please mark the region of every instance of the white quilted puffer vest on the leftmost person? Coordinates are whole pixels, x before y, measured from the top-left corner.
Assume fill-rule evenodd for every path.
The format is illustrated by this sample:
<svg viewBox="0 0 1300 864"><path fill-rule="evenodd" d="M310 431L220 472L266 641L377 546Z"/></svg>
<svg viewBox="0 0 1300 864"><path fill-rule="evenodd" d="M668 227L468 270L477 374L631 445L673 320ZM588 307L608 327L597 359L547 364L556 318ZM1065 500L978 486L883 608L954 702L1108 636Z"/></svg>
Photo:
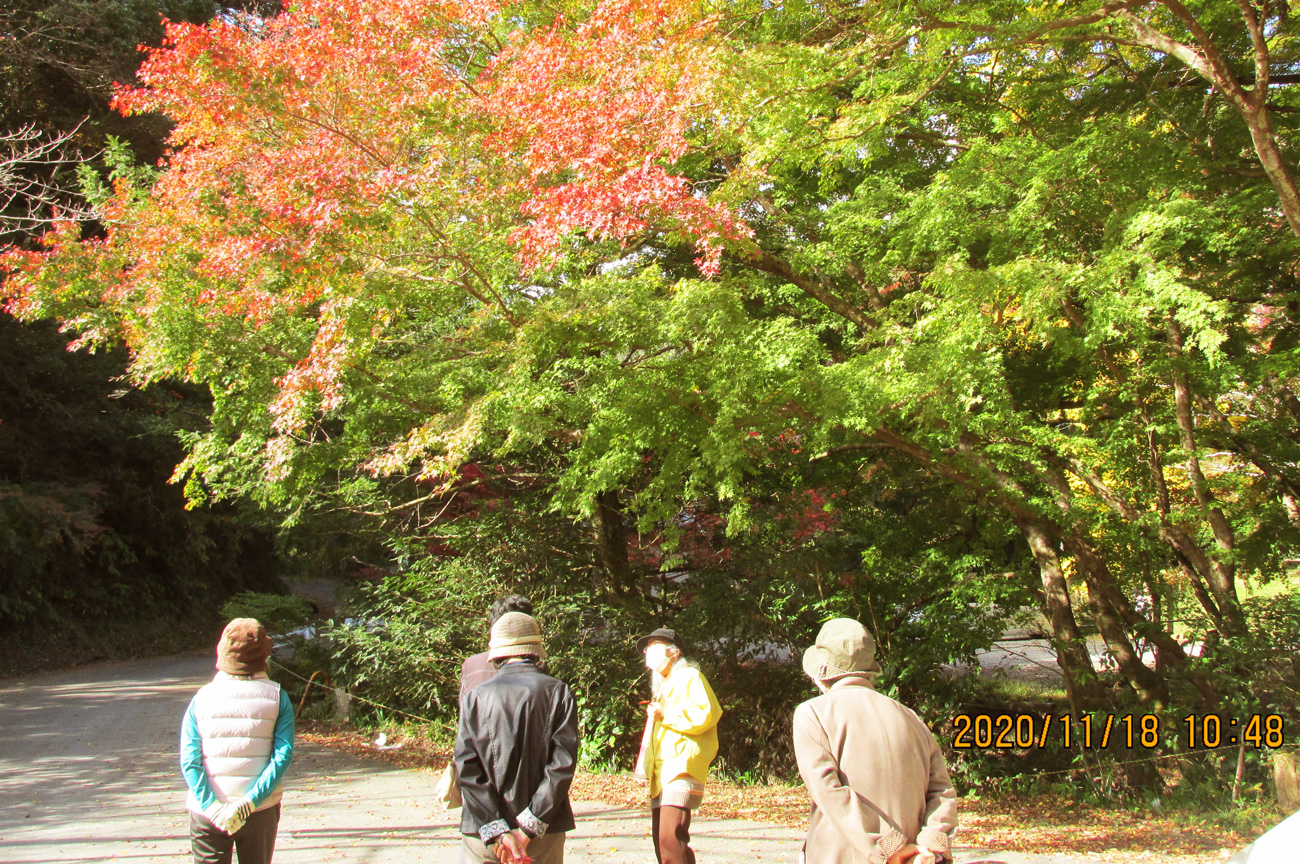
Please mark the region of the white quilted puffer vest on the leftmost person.
<svg viewBox="0 0 1300 864"><path fill-rule="evenodd" d="M221 802L234 800L252 789L270 764L280 717L280 685L261 673L237 678L218 672L194 699L194 718L203 741L203 767L212 791ZM276 786L257 809L280 803ZM187 807L200 812L190 795Z"/></svg>

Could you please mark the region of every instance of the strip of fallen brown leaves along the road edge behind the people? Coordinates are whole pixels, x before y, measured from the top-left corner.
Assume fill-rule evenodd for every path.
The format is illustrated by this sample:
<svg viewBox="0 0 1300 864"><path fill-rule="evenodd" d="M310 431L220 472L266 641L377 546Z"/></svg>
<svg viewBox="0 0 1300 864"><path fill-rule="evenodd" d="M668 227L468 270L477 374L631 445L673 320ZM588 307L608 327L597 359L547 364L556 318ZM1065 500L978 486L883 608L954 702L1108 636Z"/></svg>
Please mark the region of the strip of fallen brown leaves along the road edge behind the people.
<svg viewBox="0 0 1300 864"><path fill-rule="evenodd" d="M377 750L361 733L315 724L299 730L299 738L402 768L439 772L451 759L450 748L429 741L403 738L399 750ZM578 772L571 796L637 808L646 806L646 786L630 774ZM1098 863L1217 864L1253 839L1187 815L1106 809L1053 795L967 795L959 802L959 847L1071 855ZM802 829L807 825L809 798L803 786L714 780L699 815Z"/></svg>

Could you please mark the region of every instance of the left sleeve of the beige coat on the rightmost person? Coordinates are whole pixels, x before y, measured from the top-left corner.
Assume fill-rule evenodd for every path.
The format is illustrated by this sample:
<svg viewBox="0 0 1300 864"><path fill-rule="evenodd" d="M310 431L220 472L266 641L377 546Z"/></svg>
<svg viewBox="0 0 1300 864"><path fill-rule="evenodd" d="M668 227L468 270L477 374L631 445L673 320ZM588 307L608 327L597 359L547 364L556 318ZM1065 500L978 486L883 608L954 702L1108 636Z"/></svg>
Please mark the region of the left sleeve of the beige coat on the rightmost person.
<svg viewBox="0 0 1300 864"><path fill-rule="evenodd" d="M826 729L809 703L794 709L794 759L812 804L835 826L845 847L863 858L872 852L889 858L904 847L907 838L881 825L880 816L844 783ZM810 860L815 860L812 852L809 850Z"/></svg>

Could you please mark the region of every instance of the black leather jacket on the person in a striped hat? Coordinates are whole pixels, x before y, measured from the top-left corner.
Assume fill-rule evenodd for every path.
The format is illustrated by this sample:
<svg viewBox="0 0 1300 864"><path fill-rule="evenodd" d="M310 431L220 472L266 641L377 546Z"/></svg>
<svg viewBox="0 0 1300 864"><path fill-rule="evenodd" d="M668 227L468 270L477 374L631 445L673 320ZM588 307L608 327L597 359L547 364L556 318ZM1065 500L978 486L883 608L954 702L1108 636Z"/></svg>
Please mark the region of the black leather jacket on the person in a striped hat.
<svg viewBox="0 0 1300 864"><path fill-rule="evenodd" d="M532 837L573 829L577 705L568 685L532 660L506 664L464 695L455 760L462 833L490 843L512 828Z"/></svg>

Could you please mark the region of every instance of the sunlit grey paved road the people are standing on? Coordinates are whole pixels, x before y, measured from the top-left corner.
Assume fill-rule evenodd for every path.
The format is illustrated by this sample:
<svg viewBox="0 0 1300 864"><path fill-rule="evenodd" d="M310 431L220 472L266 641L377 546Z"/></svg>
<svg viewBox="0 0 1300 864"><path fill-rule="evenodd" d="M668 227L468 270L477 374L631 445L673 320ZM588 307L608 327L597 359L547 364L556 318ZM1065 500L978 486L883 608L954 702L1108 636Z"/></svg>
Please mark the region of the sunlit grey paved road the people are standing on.
<svg viewBox="0 0 1300 864"><path fill-rule="evenodd" d="M177 731L212 674L203 656L34 676L0 685L0 861L179 863L188 858ZM285 794L277 864L454 864L458 824L434 813L434 777L300 744ZM575 804L572 864L653 864L649 815ZM793 864L788 828L701 819L701 861ZM958 864L1084 864L962 850ZM1087 864L1095 864L1096 859Z"/></svg>

